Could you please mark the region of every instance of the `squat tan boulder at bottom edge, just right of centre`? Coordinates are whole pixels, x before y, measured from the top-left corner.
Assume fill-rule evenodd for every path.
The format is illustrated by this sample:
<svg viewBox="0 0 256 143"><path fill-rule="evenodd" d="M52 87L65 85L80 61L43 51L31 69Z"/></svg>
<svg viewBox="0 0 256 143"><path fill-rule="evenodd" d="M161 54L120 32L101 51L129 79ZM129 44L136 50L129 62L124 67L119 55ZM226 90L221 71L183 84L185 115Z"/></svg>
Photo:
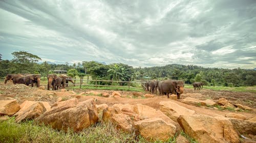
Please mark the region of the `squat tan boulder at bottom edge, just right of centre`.
<svg viewBox="0 0 256 143"><path fill-rule="evenodd" d="M173 124L166 123L161 118L145 119L134 123L135 129L149 141L166 141L173 137L176 127Z"/></svg>

